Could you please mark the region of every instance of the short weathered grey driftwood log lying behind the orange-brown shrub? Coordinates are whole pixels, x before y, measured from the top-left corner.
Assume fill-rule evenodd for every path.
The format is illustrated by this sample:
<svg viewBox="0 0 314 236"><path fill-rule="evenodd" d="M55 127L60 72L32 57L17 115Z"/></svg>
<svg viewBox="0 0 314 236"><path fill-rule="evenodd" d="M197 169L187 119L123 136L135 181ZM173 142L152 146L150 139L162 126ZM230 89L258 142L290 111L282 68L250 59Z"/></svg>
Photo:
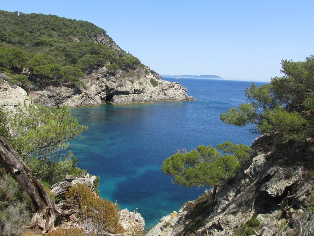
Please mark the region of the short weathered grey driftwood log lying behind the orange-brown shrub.
<svg viewBox="0 0 314 236"><path fill-rule="evenodd" d="M56 183L51 186L51 192L57 197L64 195L65 192L68 191L68 189L76 184L85 184L87 185L92 191L94 191L93 181L96 179L96 176L93 175L89 177L89 174L87 173L85 177L83 178L76 178L73 175L67 175L65 177L66 181Z"/></svg>

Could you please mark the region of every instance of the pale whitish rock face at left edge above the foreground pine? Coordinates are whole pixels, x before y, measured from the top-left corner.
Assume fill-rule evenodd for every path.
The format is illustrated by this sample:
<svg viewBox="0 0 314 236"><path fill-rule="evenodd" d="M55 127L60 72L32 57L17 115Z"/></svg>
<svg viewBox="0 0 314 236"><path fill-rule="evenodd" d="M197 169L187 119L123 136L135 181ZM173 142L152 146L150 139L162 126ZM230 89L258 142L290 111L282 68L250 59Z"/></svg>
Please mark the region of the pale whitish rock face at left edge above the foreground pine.
<svg viewBox="0 0 314 236"><path fill-rule="evenodd" d="M19 86L10 85L8 82L3 81L0 83L0 106L6 110L14 111L14 108L19 104L30 103L27 93Z"/></svg>

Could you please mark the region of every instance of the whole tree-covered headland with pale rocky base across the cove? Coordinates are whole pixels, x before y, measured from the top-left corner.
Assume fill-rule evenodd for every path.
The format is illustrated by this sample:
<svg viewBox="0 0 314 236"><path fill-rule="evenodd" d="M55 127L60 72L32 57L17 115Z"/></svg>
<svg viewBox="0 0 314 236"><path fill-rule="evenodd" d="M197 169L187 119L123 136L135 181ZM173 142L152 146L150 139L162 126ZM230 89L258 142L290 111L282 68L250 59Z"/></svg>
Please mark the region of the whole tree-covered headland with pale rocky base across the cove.
<svg viewBox="0 0 314 236"><path fill-rule="evenodd" d="M50 107L192 99L104 29L54 15L0 11L0 78Z"/></svg>

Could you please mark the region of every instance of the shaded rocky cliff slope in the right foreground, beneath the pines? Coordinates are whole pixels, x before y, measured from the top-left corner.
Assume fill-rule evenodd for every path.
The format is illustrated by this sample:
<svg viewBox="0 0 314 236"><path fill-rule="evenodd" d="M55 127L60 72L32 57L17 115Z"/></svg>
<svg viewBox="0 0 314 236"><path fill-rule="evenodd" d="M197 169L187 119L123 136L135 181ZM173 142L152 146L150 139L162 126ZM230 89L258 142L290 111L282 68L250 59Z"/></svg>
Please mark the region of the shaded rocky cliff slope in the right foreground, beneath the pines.
<svg viewBox="0 0 314 236"><path fill-rule="evenodd" d="M313 140L283 145L262 136L252 148L243 171L217 191L212 212L209 190L147 235L312 235Z"/></svg>

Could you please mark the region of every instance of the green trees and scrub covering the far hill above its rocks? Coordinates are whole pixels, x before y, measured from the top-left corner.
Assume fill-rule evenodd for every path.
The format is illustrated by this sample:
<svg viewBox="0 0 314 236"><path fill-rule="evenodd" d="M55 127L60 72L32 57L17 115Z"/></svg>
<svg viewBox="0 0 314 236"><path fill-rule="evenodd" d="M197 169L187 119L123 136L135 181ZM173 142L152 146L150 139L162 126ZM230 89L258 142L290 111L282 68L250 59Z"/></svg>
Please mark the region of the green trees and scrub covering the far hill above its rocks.
<svg viewBox="0 0 314 236"><path fill-rule="evenodd" d="M106 45L96 43L97 36ZM84 87L79 78L103 66L114 74L144 65L87 21L0 11L0 71L12 78L10 83L57 81Z"/></svg>

